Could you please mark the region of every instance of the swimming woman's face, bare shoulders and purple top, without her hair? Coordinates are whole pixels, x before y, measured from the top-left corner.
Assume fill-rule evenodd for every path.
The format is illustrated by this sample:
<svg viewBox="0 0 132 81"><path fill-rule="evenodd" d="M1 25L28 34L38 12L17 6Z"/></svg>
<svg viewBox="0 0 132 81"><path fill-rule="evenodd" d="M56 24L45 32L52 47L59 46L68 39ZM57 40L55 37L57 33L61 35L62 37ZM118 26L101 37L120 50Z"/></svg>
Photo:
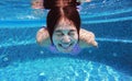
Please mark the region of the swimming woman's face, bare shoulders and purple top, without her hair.
<svg viewBox="0 0 132 81"><path fill-rule="evenodd" d="M66 20L62 20L58 25L56 25L57 27L53 33L53 45L47 28L41 28L36 35L37 43L44 47L50 47L52 45L52 48L54 46L61 53L70 53L75 48L98 46L94 33L80 28L78 36L76 27L72 24L73 23L68 21L66 22Z"/></svg>

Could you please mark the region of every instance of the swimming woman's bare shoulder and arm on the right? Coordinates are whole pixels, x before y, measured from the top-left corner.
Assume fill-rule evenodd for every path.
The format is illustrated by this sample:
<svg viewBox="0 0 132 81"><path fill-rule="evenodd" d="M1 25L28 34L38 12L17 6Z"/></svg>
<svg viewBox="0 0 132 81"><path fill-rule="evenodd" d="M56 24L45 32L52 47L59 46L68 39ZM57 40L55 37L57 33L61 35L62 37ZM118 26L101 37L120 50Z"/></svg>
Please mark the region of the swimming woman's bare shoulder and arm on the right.
<svg viewBox="0 0 132 81"><path fill-rule="evenodd" d="M98 43L95 40L95 34L92 32L80 28L79 33L79 46L85 47L98 47Z"/></svg>

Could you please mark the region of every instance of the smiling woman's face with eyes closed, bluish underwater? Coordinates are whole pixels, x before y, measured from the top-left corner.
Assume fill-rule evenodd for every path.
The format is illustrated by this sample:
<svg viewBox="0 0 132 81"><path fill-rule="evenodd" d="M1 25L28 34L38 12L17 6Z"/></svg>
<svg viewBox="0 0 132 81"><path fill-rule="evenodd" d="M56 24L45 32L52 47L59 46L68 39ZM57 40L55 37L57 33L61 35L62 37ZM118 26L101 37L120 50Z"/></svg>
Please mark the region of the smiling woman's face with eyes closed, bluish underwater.
<svg viewBox="0 0 132 81"><path fill-rule="evenodd" d="M78 33L75 25L70 21L62 19L53 33L55 47L58 51L70 53L77 42Z"/></svg>

